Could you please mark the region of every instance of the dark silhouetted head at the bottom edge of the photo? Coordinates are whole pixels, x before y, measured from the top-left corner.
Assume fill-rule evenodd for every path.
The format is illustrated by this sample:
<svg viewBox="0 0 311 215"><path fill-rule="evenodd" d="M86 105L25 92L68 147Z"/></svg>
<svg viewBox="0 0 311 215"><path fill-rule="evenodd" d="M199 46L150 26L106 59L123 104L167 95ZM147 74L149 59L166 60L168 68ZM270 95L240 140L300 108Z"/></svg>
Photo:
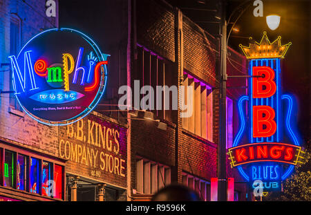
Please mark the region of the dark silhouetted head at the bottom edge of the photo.
<svg viewBox="0 0 311 215"><path fill-rule="evenodd" d="M200 197L194 190L185 187L184 185L169 185L154 194L152 199L154 201L196 201Z"/></svg>

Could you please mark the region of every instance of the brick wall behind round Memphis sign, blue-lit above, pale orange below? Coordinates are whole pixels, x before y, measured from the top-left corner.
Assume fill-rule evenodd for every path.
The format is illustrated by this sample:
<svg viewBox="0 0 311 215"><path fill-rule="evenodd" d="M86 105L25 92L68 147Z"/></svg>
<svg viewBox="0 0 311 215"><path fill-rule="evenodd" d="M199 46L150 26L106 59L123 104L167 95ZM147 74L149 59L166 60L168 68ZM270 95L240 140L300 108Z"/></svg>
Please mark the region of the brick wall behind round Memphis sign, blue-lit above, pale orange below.
<svg viewBox="0 0 311 215"><path fill-rule="evenodd" d="M10 55L10 15L17 15L21 19L21 46L37 35L41 30L55 28L56 18L46 17L45 1L9 1L0 2L0 62L9 63ZM21 47L20 47L21 48ZM0 73L0 89L9 91L8 66L3 66ZM0 94L0 135L2 138L13 140L23 146L39 149L57 154L55 143L57 142L57 128L39 124L25 115L25 113L13 114L10 109L9 97L12 93Z"/></svg>

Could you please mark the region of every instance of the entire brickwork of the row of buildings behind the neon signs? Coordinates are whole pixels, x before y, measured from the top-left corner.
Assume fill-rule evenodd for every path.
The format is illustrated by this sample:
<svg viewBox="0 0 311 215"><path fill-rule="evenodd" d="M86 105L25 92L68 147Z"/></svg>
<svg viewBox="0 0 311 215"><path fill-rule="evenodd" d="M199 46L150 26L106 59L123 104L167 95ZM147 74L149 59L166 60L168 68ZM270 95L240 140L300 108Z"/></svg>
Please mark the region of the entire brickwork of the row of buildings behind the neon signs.
<svg viewBox="0 0 311 215"><path fill-rule="evenodd" d="M157 119L167 124L165 131L158 129L158 122L131 120L129 125L126 123L126 118L120 117L119 114L111 113L111 115L107 116L108 114L103 115L95 111L84 120L76 122L72 126L50 127L40 124L29 118L25 113L12 108L9 98L1 94L0 142L16 147L16 149L31 151L41 156L41 159L46 157L56 160L55 162L61 162L66 169L67 176L81 176L84 180L89 180L92 183L103 183L111 189L120 189L120 196L117 200L137 200L135 199L135 190L138 189L136 162L141 158L170 168L169 181L171 183L182 183L182 174L189 174L209 183L211 178L217 177L219 41L194 24L188 17L182 15L178 8L173 8L164 1L137 0L135 5L132 3L131 10L126 8L126 3L124 2L120 3L122 5L120 6L122 14L124 15L126 13L124 11L127 11L131 12L131 17L135 17L131 21L132 32L130 35L131 69L129 71L131 72L131 81L133 82L135 77L140 77L141 75L138 69L139 44L165 62L167 71L163 76L165 76L166 84L180 86L184 71L208 84L213 92L211 141L182 128L180 109L177 111L166 111L165 118L160 114L158 115ZM3 4L6 7L0 7L0 17L6 19L6 21L0 24L0 38L4 39L5 42L0 43L0 53L5 54L0 55L0 57L1 62L8 62L7 57L10 52L8 45L10 44L10 35L8 35L10 30L8 28L10 21L7 20L7 16L9 17L8 8L13 6L10 6L8 0L4 1ZM44 5L39 5L37 1L31 1L30 5L42 8L42 11L44 11ZM23 10L21 10L21 7L23 7ZM2 11L4 10L2 8L7 8L7 10ZM22 27L22 44L40 32L40 28L53 28L53 24L55 24L55 20L48 21L47 19L42 19L44 14L37 15L36 13L33 15L35 17L31 18L38 21L30 21L30 15L33 13L24 8L25 6L19 6L19 3L17 3L17 8L14 9L19 16L26 20ZM124 26L126 24L123 23L122 27ZM3 29L5 32L3 32ZM126 31L123 29L122 32L124 34ZM119 65L119 61L113 55L111 56L113 64L109 65L109 69L112 71L111 74L113 74L110 77L117 77L116 71L120 69L120 83L124 83L126 80L124 77L129 75L126 74L128 68L124 69L126 67L124 66L124 59L129 57L129 55L126 56L124 49L127 39L125 37L120 39L122 50L120 50L121 56L119 60L122 62L122 65ZM119 50L114 49L113 51L117 53ZM228 75L246 73L245 59L234 50L229 50L229 52L231 53L230 59L232 59L232 62L228 62L227 65ZM118 68L118 66L122 68ZM3 80L3 82L0 82L0 90L9 91L8 73L0 73L0 80ZM112 88L117 88L118 86L115 80L111 81L112 84L110 83ZM235 84L245 86L246 83L245 80L227 82L228 86L235 86ZM227 90L227 96L234 100L234 134L238 131L236 100L242 94L245 94L245 90L241 88ZM13 94L10 96L13 96ZM111 101L116 102L117 91L110 90L107 96L113 99L109 100L109 98L104 97L101 104L112 104ZM180 100L181 98L178 97L178 102ZM100 110L100 107L97 108L97 111L98 109ZM94 123L94 128L90 131L90 127ZM103 133L108 132L109 135L102 136L101 139L100 129L104 128L111 130L109 132L102 130ZM95 139L93 140L93 138ZM105 144L100 142L103 140ZM127 142L128 140L130 142ZM108 166L107 162L113 166ZM242 181L242 178L238 176L236 171L230 169L229 163L227 176L234 177L236 181ZM64 200L70 200L68 197L70 196L70 186L70 181L66 180ZM245 200L245 186L236 184L236 190L241 194L240 199ZM5 192L11 194L11 196L13 192L15 196L19 195L18 191L10 191L0 185L0 194L2 195ZM127 198L126 192L128 194ZM23 200L52 200L51 198L38 195L33 197L32 194L20 194L20 197Z"/></svg>

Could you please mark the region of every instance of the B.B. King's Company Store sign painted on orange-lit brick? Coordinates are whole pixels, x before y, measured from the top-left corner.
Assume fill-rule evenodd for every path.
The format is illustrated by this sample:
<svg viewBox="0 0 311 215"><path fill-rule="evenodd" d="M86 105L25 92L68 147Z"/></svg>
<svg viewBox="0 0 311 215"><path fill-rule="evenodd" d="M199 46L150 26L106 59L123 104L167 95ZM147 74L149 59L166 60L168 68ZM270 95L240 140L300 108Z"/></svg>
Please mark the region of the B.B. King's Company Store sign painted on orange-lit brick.
<svg viewBox="0 0 311 215"><path fill-rule="evenodd" d="M59 127L59 158L66 171L126 187L126 127L93 113Z"/></svg>

